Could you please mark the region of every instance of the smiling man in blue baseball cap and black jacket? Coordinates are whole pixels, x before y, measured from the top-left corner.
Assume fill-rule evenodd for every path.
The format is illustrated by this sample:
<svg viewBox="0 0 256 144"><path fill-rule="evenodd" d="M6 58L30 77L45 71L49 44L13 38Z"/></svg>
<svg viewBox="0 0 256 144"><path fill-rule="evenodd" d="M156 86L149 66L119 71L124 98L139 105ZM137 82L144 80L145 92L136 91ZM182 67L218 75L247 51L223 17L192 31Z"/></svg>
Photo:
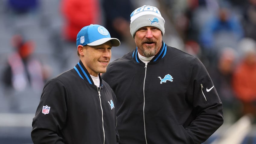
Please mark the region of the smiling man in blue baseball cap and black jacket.
<svg viewBox="0 0 256 144"><path fill-rule="evenodd" d="M116 97L100 74L106 72L112 46L119 45L101 25L79 31L79 62L43 88L32 123L34 144L117 143Z"/></svg>

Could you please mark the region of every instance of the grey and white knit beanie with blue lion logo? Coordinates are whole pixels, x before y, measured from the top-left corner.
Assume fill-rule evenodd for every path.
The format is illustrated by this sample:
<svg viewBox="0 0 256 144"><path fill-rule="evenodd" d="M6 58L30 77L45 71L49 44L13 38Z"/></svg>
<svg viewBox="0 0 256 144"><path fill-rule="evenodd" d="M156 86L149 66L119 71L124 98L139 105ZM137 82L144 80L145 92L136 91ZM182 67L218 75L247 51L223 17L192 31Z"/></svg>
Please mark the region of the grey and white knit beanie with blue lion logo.
<svg viewBox="0 0 256 144"><path fill-rule="evenodd" d="M150 5L143 5L134 10L130 16L130 32L133 38L139 28L146 26L157 27L162 31L162 35L165 34L165 19L162 17L158 8Z"/></svg>

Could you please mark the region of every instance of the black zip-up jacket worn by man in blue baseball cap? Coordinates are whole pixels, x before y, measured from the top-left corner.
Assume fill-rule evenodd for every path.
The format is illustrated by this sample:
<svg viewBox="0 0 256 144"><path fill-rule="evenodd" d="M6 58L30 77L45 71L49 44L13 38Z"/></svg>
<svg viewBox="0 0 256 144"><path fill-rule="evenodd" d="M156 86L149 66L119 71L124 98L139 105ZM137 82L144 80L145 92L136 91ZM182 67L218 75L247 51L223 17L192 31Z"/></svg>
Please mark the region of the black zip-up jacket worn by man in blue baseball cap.
<svg viewBox="0 0 256 144"><path fill-rule="evenodd" d="M46 82L32 123L34 144L117 143L116 97L100 81L98 88L79 61Z"/></svg>

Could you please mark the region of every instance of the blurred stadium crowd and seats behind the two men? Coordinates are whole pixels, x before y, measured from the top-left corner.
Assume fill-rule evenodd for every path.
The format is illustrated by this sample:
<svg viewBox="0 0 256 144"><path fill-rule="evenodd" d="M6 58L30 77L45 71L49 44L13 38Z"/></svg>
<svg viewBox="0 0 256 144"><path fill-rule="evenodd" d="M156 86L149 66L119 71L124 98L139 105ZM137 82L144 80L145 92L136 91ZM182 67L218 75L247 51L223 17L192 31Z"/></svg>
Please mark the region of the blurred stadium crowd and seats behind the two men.
<svg viewBox="0 0 256 144"><path fill-rule="evenodd" d="M256 0L0 0L0 113L35 113L44 83L78 62L86 25L121 41L111 61L135 49L130 14L142 5L161 11L165 43L206 66L224 124L256 115Z"/></svg>

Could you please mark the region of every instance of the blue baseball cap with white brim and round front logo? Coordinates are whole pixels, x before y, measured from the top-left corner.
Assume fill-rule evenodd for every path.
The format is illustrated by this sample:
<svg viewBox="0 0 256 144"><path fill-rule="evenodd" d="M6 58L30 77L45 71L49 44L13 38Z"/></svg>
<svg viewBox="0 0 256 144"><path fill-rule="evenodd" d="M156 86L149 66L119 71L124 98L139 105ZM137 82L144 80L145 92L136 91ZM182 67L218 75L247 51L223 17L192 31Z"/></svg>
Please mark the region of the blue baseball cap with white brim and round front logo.
<svg viewBox="0 0 256 144"><path fill-rule="evenodd" d="M111 41L112 46L119 46L120 40L111 38L108 30L98 24L90 24L83 27L77 34L76 47L78 45L98 46L107 41Z"/></svg>

